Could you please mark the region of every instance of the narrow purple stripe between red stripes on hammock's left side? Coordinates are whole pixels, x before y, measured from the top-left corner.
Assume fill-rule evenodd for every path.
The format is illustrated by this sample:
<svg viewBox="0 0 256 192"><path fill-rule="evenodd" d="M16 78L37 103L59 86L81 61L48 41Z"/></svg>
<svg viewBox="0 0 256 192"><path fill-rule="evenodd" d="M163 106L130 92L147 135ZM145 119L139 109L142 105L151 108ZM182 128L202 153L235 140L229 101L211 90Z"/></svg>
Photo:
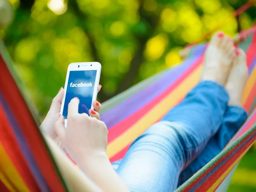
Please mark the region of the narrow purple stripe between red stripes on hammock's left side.
<svg viewBox="0 0 256 192"><path fill-rule="evenodd" d="M29 150L29 147L28 147L22 133L20 132L20 128L17 125L17 123L15 122L15 119L12 116L12 112L9 110L9 107L7 106L7 103L5 102L5 100L3 99L1 94L0 94L0 102L3 106L3 109L5 110L5 112L7 114L7 118L8 118L9 123L12 126L12 130L15 132L15 138L17 139L17 142L19 143L19 146L22 150L23 157L25 157L26 162L28 163L29 168L31 169L35 180L37 181L42 192L49 192L50 189L49 189L47 183L45 182L43 176L41 175L41 172L38 169L38 166L36 165L34 158L32 157L31 151Z"/></svg>

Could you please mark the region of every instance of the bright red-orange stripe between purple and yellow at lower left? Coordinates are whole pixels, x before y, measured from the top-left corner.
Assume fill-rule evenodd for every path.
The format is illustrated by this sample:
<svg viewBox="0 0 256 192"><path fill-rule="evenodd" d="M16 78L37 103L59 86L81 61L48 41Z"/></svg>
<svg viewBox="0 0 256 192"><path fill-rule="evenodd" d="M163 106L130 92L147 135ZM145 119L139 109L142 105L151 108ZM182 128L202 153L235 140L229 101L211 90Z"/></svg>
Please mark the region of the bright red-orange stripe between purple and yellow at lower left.
<svg viewBox="0 0 256 192"><path fill-rule="evenodd" d="M20 152L19 144L15 140L15 134L12 131L11 125L7 121L7 116L3 111L1 103L0 122L0 141L4 150L6 151L6 154L8 154L8 157L11 160L11 163L30 191L40 191L35 179L30 172L29 167L26 164L26 160L24 159L23 154Z"/></svg>

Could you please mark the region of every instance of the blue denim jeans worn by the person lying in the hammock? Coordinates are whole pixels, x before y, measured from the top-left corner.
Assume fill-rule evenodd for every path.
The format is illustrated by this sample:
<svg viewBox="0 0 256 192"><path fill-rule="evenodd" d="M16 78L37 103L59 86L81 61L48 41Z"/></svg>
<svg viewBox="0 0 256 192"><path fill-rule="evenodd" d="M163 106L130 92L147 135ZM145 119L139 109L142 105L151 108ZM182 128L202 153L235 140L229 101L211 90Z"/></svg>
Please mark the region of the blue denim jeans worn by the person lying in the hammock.
<svg viewBox="0 0 256 192"><path fill-rule="evenodd" d="M128 189L174 191L218 154L247 117L242 108L228 107L228 99L220 84L202 81L138 137L113 163Z"/></svg>

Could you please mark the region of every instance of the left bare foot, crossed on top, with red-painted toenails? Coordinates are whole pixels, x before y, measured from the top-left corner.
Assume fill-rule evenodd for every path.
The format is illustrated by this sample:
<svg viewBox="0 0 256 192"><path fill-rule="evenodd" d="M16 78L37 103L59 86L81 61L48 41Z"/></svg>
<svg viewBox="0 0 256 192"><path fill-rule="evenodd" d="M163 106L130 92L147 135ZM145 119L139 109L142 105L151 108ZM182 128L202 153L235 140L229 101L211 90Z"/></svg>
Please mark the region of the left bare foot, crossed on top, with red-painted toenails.
<svg viewBox="0 0 256 192"><path fill-rule="evenodd" d="M216 32L204 54L204 68L201 81L216 81L224 85L230 73L231 64L236 56L233 41L223 32Z"/></svg>

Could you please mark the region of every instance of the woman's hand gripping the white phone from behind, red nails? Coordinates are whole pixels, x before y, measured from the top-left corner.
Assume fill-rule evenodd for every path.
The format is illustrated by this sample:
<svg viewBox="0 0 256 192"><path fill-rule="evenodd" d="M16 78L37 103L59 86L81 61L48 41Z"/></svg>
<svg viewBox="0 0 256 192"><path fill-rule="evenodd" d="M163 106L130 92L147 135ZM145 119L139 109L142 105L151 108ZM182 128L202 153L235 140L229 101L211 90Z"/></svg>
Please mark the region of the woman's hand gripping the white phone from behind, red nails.
<svg viewBox="0 0 256 192"><path fill-rule="evenodd" d="M98 92L100 91L101 87L102 86L99 85ZM64 96L64 89L61 87L58 94L52 99L52 104L47 113L47 116L45 117L44 121L40 125L40 129L44 132L44 134L47 134L49 137L51 137L52 140L54 140L55 143L62 150L64 150L64 148L61 145L58 135L56 134L56 132L54 130L54 125L60 115L61 102L62 102L63 96ZM93 101L93 108L94 108L94 110L91 110L91 109L89 110L90 116L96 117L97 119L99 119L99 112L101 110L101 104L97 101Z"/></svg>

